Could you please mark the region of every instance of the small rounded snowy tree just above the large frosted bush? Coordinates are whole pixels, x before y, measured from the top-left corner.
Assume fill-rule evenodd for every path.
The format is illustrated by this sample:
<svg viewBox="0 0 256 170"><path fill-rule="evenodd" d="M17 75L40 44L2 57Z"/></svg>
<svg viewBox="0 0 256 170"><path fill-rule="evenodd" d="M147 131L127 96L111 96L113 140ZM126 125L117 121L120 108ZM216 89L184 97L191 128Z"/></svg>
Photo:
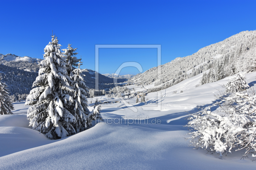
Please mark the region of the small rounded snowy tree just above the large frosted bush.
<svg viewBox="0 0 256 170"><path fill-rule="evenodd" d="M225 92L241 92L243 89L249 88L249 85L245 81L246 77L242 73L238 73L235 78L232 78L225 85Z"/></svg>

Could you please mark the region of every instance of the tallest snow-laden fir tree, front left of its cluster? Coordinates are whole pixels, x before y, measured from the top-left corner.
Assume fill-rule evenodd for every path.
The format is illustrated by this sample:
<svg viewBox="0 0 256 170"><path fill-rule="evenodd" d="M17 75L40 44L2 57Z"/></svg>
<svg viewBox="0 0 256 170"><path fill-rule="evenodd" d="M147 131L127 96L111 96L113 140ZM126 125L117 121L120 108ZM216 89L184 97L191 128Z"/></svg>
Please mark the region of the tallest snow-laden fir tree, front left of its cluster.
<svg viewBox="0 0 256 170"><path fill-rule="evenodd" d="M66 70L66 58L60 51L57 37L44 48L44 60L40 63L38 77L27 97L29 126L58 139L76 134L77 119L72 115L74 92Z"/></svg>

